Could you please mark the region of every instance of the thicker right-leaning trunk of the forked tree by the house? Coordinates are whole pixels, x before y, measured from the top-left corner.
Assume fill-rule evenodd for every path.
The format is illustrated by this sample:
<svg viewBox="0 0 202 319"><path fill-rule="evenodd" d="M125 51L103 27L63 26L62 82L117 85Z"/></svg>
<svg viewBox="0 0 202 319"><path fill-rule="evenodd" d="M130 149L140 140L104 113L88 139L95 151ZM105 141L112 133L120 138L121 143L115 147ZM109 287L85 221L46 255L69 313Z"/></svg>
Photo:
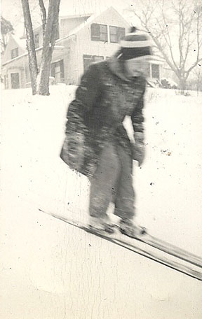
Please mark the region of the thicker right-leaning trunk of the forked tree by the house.
<svg viewBox="0 0 202 319"><path fill-rule="evenodd" d="M49 0L48 17L43 37L43 50L41 66L37 77L36 92L41 95L49 95L50 63L52 59L55 39L58 32L58 15L60 0Z"/></svg>

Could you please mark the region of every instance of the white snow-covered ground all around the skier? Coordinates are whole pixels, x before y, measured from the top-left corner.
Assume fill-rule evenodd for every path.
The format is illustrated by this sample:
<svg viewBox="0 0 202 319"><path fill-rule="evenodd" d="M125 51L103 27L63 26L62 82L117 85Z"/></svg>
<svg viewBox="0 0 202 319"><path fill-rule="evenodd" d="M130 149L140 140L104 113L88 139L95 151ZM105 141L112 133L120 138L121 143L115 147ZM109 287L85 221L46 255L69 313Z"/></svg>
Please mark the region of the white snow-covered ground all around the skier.
<svg viewBox="0 0 202 319"><path fill-rule="evenodd" d="M2 90L0 318L201 318L199 281L39 212L86 220L88 180L58 156L74 90ZM146 101L137 220L202 255L202 96L149 89Z"/></svg>

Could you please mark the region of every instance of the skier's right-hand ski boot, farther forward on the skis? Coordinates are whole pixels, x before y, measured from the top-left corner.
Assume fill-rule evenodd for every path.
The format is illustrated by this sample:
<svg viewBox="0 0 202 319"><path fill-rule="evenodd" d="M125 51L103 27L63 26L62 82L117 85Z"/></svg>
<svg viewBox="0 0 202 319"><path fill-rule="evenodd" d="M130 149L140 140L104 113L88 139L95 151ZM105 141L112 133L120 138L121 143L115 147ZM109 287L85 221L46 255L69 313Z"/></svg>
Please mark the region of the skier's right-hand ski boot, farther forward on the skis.
<svg viewBox="0 0 202 319"><path fill-rule="evenodd" d="M142 236L147 234L147 230L144 227L135 225L133 220L130 220L128 218L121 219L119 221L119 230L122 234L135 239L141 238Z"/></svg>

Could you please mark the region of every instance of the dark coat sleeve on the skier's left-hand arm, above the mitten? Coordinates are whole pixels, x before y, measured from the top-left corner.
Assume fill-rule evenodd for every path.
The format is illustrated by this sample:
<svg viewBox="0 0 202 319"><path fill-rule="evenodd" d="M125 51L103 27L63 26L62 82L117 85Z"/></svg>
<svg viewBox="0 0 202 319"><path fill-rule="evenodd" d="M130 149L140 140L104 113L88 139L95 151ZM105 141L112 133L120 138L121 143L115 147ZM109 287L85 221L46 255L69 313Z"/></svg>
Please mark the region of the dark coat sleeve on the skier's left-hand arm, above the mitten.
<svg viewBox="0 0 202 319"><path fill-rule="evenodd" d="M81 77L81 83L76 90L75 99L69 104L67 120L70 120L76 129L79 122L83 122L85 113L90 111L101 94L100 73L95 64L91 64ZM68 122L68 121L67 121Z"/></svg>

